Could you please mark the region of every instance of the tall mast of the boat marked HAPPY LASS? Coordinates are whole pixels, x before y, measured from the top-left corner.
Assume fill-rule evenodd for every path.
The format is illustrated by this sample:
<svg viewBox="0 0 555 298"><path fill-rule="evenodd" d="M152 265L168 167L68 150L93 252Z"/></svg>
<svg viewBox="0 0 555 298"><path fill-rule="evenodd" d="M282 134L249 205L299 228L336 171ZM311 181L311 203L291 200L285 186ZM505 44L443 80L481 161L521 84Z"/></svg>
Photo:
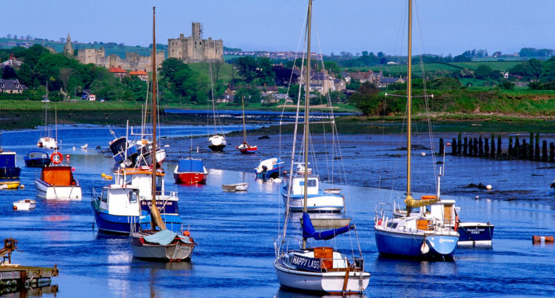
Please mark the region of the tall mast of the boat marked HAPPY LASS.
<svg viewBox="0 0 555 298"><path fill-rule="evenodd" d="M308 17L307 17L307 91L305 93L305 198L302 201L302 212L306 213L307 209L307 191L308 191L308 114L310 108L310 25L311 25L311 18L312 15L312 0L308 1ZM302 237L302 249L307 248L307 238Z"/></svg>

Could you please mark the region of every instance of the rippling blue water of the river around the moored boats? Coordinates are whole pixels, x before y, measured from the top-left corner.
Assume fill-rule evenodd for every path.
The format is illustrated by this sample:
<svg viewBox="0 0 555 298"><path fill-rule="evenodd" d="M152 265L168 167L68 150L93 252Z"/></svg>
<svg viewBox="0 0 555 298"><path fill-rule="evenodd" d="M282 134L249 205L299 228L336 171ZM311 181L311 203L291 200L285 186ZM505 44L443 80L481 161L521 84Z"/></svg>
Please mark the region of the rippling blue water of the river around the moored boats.
<svg viewBox="0 0 555 298"><path fill-rule="evenodd" d="M205 127L167 127L166 135L183 137L205 134ZM114 130L114 128L112 128ZM230 130L235 130L231 129ZM122 128L117 128L123 134ZM205 160L209 170L207 184L183 186L165 178L167 190L178 191L182 220L190 227L191 236L199 245L191 263L150 263L133 260L126 237L103 236L92 229L90 205L92 186L105 184L101 173L110 173L112 159L96 150L107 147L112 136L107 128L80 125L58 126L63 140L63 155L70 155L69 164L83 186L80 202L49 202L37 199L33 211L13 211L12 202L35 198L33 179L40 169L24 168L23 155L35 149L40 130L3 132L2 146L17 152L22 166L25 189L0 191L0 240L19 240L21 251L12 254L12 262L22 265L52 266L57 264L60 276L58 297L305 297L280 290L273 269L273 240L284 220L280 184L255 180L252 173L260 158L289 153L291 137L256 139L255 155L240 155L234 150L240 138L228 138L223 153L206 149L204 138L193 139L199 147L195 157ZM373 235L373 217L377 202L391 202L402 196L402 184L391 184L393 177L402 177L402 158L388 156L397 148L398 136L342 137L345 173L357 186L343 187L347 195L348 213L357 223L360 245L366 259L366 270L372 274L366 289L368 297L492 297L492 296L555 296L555 247L532 245L532 235L555 234L555 207L551 201L506 200L520 185L529 196L547 192L549 186L533 182L538 164L514 164L482 159L448 157L446 177L442 180L443 198L454 198L461 207L463 221L492 222L495 225L491 248L456 249L454 262L404 261L382 258L377 254ZM79 146L89 144L89 149ZM316 152L323 152L322 137L314 138ZM189 139L167 139L168 158L164 163L171 173L180 157L189 155ZM76 150L72 147L75 146ZM359 154L356 154L359 152ZM415 152L415 178L419 179L430 156ZM401 153L400 153L401 154ZM323 176L323 157L318 166ZM400 164L398 164L400 163ZM398 164L399 170L394 170ZM461 166L461 165L464 166ZM518 168L511 171L510 168ZM543 170L545 171L545 170ZM247 172L247 173L244 173ZM549 172L550 175L551 172ZM428 173L425 173L428 174ZM545 177L547 178L547 173ZM555 177L551 176L550 178ZM326 178L326 179L327 179ZM224 193L221 184L250 182L246 193ZM466 182L487 182L502 191L468 193ZM434 184L433 179L429 184ZM381 186L385 189L377 189ZM373 186L373 187L366 187ZM429 191L434 186L415 182L415 190ZM475 196L479 195L479 200ZM400 199L397 199L400 202ZM298 218L293 220L290 234L297 234ZM348 235L336 244L350 254L356 242ZM321 244L319 244L321 245ZM332 245L331 241L327 245Z"/></svg>

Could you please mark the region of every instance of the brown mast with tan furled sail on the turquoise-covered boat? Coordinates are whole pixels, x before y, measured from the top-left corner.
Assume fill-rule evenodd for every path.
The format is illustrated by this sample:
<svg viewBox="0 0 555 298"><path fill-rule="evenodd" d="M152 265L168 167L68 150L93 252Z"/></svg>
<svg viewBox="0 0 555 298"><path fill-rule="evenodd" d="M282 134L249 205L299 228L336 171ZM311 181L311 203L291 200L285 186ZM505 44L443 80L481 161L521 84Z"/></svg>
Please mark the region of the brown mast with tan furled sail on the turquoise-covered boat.
<svg viewBox="0 0 555 298"><path fill-rule="evenodd" d="M162 217L160 216L160 211L156 207L156 7L152 8L152 202L151 202L151 227L155 230L155 227L160 227L160 229L167 229Z"/></svg>

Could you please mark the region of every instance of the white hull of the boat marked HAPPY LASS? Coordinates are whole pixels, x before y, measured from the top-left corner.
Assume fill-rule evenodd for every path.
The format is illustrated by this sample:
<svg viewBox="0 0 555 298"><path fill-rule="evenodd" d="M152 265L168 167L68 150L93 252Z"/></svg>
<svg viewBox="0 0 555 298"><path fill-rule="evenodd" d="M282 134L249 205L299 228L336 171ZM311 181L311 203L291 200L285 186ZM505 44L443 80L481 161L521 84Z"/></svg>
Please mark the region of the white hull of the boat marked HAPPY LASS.
<svg viewBox="0 0 555 298"><path fill-rule="evenodd" d="M282 288L325 294L358 294L368 286L370 274L349 272L345 286L345 272L307 272L285 268L274 262L275 273ZM345 290L343 291L343 286Z"/></svg>

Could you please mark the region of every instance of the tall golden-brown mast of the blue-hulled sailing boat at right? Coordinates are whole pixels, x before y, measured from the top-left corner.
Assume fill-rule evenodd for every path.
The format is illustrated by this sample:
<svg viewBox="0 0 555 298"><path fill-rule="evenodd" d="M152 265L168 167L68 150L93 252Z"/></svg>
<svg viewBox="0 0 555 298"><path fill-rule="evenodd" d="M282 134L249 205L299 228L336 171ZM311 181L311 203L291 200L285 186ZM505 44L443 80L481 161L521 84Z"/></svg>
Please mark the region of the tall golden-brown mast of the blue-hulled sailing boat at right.
<svg viewBox="0 0 555 298"><path fill-rule="evenodd" d="M407 198L411 197L411 85L412 85L412 0L409 0L409 49L407 53Z"/></svg>

